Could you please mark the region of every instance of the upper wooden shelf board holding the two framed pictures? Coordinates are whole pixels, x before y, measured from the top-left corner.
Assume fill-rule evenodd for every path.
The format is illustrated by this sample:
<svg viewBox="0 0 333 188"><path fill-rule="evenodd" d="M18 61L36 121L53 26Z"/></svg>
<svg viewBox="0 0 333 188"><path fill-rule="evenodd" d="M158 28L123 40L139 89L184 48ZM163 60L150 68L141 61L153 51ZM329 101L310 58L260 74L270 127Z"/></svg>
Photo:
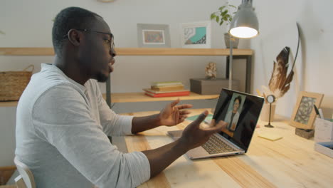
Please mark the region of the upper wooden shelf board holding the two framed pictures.
<svg viewBox="0 0 333 188"><path fill-rule="evenodd" d="M218 48L115 48L117 56L229 56ZM53 48L0 48L2 56L54 56ZM233 56L252 56L251 49L233 49Z"/></svg>

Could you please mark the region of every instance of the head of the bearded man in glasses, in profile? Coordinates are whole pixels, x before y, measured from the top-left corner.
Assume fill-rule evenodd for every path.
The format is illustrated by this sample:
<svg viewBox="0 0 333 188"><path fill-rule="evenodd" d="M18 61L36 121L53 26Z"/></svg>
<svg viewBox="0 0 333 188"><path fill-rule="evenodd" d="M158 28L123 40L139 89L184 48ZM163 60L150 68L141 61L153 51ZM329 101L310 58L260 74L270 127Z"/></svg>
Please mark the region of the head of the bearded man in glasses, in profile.
<svg viewBox="0 0 333 188"><path fill-rule="evenodd" d="M56 16L52 29L56 55L73 63L83 78L104 82L115 63L113 36L101 16L69 7Z"/></svg>

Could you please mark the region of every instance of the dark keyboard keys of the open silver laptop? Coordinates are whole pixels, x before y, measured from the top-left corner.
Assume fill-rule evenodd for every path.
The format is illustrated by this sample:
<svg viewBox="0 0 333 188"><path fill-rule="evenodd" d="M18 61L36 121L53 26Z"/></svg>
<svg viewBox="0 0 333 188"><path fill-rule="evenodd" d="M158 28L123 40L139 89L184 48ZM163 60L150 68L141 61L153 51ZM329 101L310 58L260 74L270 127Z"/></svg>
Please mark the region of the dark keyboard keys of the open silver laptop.
<svg viewBox="0 0 333 188"><path fill-rule="evenodd" d="M209 154L223 153L223 152L233 152L236 151L233 147L230 147L222 140L218 139L216 135L211 135L209 140L202 145Z"/></svg>

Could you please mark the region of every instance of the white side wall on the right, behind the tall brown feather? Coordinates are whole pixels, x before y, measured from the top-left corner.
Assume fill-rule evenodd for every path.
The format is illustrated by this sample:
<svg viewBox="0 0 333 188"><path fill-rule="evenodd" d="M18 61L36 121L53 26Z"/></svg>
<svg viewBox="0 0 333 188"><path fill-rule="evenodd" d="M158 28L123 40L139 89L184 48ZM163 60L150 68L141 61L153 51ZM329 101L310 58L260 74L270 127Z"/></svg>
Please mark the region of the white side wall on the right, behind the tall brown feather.
<svg viewBox="0 0 333 188"><path fill-rule="evenodd" d="M333 113L333 20L332 0L253 1L260 24L260 35L251 39L255 50L253 91L268 85L273 61L285 46L295 57L297 27L301 45L290 90L277 101L277 114L290 117L300 91L324 93L325 117ZM260 89L261 90L261 89Z"/></svg>

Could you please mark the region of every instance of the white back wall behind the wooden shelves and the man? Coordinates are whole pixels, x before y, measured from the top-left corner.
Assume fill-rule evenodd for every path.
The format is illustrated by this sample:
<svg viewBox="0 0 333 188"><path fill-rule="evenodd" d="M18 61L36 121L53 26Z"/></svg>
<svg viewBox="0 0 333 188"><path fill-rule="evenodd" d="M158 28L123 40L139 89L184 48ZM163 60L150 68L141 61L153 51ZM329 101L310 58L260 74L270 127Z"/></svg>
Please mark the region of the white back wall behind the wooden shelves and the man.
<svg viewBox="0 0 333 188"><path fill-rule="evenodd" d="M226 0L116 0L102 4L95 0L16 0L0 1L0 47L52 47L51 21L56 14L68 6L80 6L95 11L104 17L115 35L117 47L137 47L137 23L168 24L172 48L181 48L179 24L208 21ZM226 27L212 22L212 48L225 48L223 33ZM247 41L240 41L246 48ZM0 56L0 71L21 71L33 64L34 73L40 71L41 63L52 63L52 56ZM122 56L116 57L115 72L112 73L112 92L139 92L149 87L152 81L180 80L189 88L189 78L203 78L204 68L209 61L218 63L218 77L224 77L225 57L211 56ZM241 62L240 62L241 63ZM101 85L105 91L105 85ZM206 104L206 102L203 102ZM121 105L121 104L120 104ZM133 110L129 105L116 106L117 111ZM162 108L164 103L133 104ZM211 102L209 102L211 105ZM196 108L204 107L202 104ZM120 109L121 108L121 109ZM119 110L120 109L120 110ZM10 110L7 113L3 113ZM0 111L0 166L13 164L13 146L16 108L1 108ZM11 118L9 118L11 117ZM10 130L10 131L9 131ZM10 132L10 134L9 134ZM8 138L11 137L11 140ZM11 155L4 155L6 149Z"/></svg>

